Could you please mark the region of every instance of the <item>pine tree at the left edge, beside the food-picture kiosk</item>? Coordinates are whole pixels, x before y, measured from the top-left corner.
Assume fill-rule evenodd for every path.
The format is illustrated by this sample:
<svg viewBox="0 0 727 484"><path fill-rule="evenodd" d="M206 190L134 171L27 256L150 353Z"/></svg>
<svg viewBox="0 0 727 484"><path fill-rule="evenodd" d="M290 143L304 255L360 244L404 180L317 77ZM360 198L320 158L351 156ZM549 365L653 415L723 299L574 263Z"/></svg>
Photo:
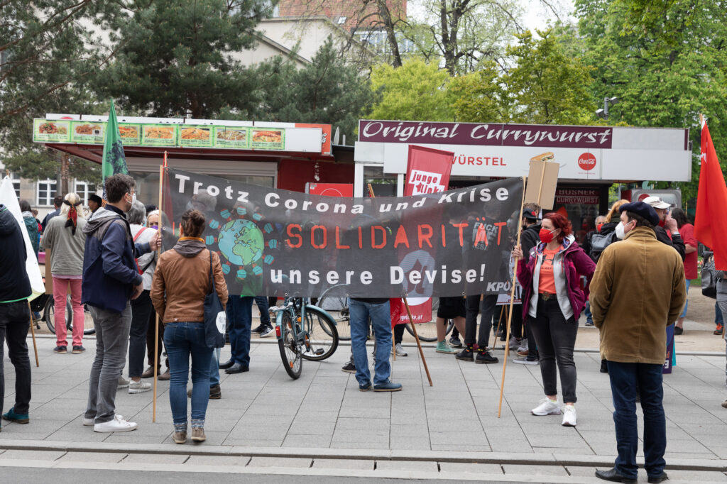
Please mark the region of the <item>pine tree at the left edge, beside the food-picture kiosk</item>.
<svg viewBox="0 0 727 484"><path fill-rule="evenodd" d="M3 163L33 180L61 176L95 181L94 164L34 145L33 118L45 113L94 113L89 79L108 60L81 20L111 12L105 2L0 2L0 145Z"/></svg>

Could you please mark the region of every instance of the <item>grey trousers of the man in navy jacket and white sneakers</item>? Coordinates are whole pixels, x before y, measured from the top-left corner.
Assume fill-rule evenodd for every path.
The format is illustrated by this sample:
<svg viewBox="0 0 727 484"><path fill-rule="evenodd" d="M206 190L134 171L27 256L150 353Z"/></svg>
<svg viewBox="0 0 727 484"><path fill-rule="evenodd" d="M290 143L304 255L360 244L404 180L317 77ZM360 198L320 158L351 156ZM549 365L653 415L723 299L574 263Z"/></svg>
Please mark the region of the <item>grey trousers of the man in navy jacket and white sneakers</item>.
<svg viewBox="0 0 727 484"><path fill-rule="evenodd" d="M116 410L116 387L126 365L132 307L126 302L122 312L89 306L96 328L96 358L89 377L89 403L84 417L96 424L110 422Z"/></svg>

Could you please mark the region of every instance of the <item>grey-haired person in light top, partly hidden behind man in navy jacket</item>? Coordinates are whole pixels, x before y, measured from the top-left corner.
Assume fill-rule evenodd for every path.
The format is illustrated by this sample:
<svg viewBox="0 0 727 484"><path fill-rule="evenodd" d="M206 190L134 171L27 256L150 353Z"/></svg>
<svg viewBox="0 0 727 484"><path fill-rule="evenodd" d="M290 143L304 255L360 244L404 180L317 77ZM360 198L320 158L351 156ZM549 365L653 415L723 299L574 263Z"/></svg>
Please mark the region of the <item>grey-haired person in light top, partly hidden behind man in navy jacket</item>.
<svg viewBox="0 0 727 484"><path fill-rule="evenodd" d="M149 243L156 237L156 230L145 227L146 209L143 203L135 201L132 208L126 213L126 220L132 231L134 243ZM142 382L144 372L144 356L146 352L146 335L150 316L154 307L151 304L149 291L151 281L156 269L157 253L148 252L136 259L138 273L141 275L144 290L136 299L132 300L132 326L129 329L129 393L142 393L151 390L151 384ZM166 375L159 375L160 380L169 379L169 370Z"/></svg>

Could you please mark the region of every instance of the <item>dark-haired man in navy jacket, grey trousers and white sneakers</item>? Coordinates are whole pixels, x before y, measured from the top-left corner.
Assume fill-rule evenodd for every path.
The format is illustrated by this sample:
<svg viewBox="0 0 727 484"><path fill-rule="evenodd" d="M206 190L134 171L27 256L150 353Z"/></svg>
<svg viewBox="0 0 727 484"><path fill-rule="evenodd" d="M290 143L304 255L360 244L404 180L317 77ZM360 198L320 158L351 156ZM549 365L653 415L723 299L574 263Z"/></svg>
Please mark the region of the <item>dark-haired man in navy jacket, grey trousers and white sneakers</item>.
<svg viewBox="0 0 727 484"><path fill-rule="evenodd" d="M142 293L142 278L134 259L156 250L161 238L134 244L126 211L136 201L136 182L115 174L105 182L108 203L94 212L84 227L84 277L82 302L89 305L96 328L96 357L89 378L89 401L84 425L95 432L127 432L137 428L115 410L116 387L126 363L130 299Z"/></svg>

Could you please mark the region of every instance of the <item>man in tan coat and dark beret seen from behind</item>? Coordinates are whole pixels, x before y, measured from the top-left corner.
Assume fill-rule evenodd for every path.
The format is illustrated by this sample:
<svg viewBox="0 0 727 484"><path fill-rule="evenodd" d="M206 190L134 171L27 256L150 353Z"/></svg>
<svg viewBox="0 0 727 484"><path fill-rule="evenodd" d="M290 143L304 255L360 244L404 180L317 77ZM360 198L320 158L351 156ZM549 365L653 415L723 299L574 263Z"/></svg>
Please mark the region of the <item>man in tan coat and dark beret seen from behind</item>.
<svg viewBox="0 0 727 484"><path fill-rule="evenodd" d="M608 360L614 398L618 456L613 469L596 477L636 483L636 392L641 398L643 451L649 483L667 479L662 368L667 326L686 300L684 265L675 249L656 240L659 217L643 202L622 206L616 235L598 260L590 285L593 323L601 330L601 358Z"/></svg>

